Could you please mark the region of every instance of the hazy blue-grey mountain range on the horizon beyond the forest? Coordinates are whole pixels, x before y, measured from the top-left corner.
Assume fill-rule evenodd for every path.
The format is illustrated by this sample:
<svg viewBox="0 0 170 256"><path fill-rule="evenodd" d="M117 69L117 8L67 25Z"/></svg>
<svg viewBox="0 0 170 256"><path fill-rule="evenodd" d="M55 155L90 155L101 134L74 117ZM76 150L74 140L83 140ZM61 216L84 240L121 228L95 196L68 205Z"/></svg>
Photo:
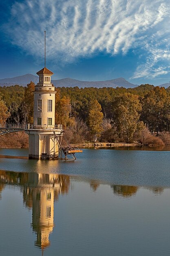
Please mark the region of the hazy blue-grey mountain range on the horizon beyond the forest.
<svg viewBox="0 0 170 256"><path fill-rule="evenodd" d="M4 78L0 79L0 86L11 86L11 85L22 85L26 86L27 83L30 83L30 81L33 81L35 84L38 83L38 76L34 76L32 74L25 74L23 76L16 76L12 78ZM123 77L112 79L112 80L106 80L106 81L80 81L72 78L64 78L59 80L52 80L53 85L56 87L79 87L79 88L85 88L85 87L124 87L124 88L134 88L138 85L135 85L133 83L129 83L124 79ZM170 83L164 83L162 85L159 85L160 87L167 88L170 86Z"/></svg>

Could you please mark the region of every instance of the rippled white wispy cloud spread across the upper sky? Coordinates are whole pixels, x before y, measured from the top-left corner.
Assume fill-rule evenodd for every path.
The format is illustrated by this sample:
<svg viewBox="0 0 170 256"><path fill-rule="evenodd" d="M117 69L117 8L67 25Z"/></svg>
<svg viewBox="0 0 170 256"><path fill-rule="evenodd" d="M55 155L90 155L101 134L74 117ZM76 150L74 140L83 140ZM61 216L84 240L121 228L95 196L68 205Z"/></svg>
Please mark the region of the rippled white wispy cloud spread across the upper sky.
<svg viewBox="0 0 170 256"><path fill-rule="evenodd" d="M71 63L97 52L126 54L143 51L132 78L167 74L170 60L170 5L168 0L25 0L15 2L3 26L11 42L25 52Z"/></svg>

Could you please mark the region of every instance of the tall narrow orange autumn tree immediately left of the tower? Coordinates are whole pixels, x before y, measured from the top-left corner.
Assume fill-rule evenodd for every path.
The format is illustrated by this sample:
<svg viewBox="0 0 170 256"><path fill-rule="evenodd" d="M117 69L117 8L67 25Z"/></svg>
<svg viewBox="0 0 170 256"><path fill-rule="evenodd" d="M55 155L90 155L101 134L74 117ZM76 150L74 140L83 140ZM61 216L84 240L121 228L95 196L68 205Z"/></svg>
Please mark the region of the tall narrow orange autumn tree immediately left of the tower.
<svg viewBox="0 0 170 256"><path fill-rule="evenodd" d="M33 124L34 88L35 88L35 83L31 81L30 83L27 84L27 87L25 87L25 92L24 92L24 103L28 110L28 122L30 124Z"/></svg>

